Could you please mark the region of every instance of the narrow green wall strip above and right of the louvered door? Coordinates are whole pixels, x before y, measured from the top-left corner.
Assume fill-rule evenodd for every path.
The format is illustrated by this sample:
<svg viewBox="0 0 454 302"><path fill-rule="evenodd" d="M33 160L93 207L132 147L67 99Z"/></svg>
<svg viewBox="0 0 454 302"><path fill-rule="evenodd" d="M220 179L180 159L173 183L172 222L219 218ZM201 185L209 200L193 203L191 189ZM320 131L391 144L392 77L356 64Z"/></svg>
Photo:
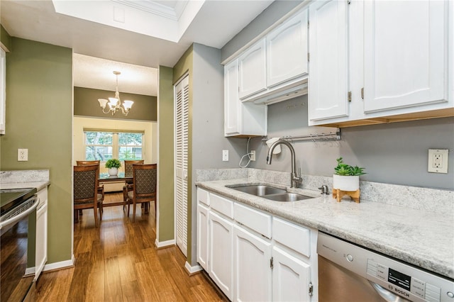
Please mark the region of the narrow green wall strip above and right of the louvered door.
<svg viewBox="0 0 454 302"><path fill-rule="evenodd" d="M189 74L189 112L188 112L188 167L187 167L187 262L192 264L192 97L193 97L193 45L179 58L173 67L173 84L184 74ZM173 130L173 126L172 126ZM173 155L173 153L172 153Z"/></svg>

